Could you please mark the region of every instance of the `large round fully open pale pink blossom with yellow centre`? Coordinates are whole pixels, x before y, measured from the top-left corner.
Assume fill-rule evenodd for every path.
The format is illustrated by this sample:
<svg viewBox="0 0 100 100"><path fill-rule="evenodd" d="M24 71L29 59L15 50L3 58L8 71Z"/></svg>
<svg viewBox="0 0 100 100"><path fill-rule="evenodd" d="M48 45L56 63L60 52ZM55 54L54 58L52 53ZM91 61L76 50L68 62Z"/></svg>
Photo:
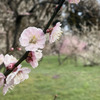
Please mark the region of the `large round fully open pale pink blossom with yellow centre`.
<svg viewBox="0 0 100 100"><path fill-rule="evenodd" d="M19 41L21 46L25 47L26 51L36 51L39 48L44 48L46 38L42 29L28 27L22 32Z"/></svg>

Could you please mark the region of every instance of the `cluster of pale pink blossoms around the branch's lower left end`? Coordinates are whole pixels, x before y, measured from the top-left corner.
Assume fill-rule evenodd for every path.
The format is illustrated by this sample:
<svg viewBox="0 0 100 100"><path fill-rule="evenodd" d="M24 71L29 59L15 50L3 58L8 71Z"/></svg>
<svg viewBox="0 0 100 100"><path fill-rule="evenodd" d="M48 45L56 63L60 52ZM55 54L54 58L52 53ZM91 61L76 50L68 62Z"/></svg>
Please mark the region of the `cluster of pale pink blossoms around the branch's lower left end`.
<svg viewBox="0 0 100 100"><path fill-rule="evenodd" d="M0 64L4 63L6 70L12 70L14 64L17 62L17 59L12 55L3 54L0 55ZM13 70L11 74L5 76L3 73L0 73L0 87L3 86L3 94L5 95L9 89L12 89L15 85L20 82L28 79L30 72L29 68L21 68L21 64Z"/></svg>

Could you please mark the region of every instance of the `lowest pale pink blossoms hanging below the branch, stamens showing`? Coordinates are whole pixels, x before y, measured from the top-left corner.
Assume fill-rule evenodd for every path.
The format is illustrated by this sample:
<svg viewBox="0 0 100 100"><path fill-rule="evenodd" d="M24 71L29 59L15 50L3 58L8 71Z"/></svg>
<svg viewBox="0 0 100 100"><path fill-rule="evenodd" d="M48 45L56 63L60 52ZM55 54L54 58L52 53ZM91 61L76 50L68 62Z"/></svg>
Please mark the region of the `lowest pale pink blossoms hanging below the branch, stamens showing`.
<svg viewBox="0 0 100 100"><path fill-rule="evenodd" d="M13 89L13 87L20 82L26 80L29 78L30 73L29 68L21 68L21 65L19 65L16 70L14 70L11 74L9 74L6 78L6 84L3 88L3 94L5 95L9 89Z"/></svg>

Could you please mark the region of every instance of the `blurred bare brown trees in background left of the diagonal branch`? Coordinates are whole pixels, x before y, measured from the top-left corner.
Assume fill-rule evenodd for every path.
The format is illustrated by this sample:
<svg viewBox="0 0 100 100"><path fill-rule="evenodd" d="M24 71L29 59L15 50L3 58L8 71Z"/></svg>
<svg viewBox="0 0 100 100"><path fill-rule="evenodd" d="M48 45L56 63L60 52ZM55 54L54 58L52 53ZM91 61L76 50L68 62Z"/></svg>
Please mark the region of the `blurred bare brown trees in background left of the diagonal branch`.
<svg viewBox="0 0 100 100"><path fill-rule="evenodd" d="M50 19L59 0L5 0L0 1L0 33L6 37L6 53L19 47L18 38L28 26L43 28ZM57 19L61 19L58 13ZM3 44L4 44L3 43ZM5 51L4 51L5 52Z"/></svg>

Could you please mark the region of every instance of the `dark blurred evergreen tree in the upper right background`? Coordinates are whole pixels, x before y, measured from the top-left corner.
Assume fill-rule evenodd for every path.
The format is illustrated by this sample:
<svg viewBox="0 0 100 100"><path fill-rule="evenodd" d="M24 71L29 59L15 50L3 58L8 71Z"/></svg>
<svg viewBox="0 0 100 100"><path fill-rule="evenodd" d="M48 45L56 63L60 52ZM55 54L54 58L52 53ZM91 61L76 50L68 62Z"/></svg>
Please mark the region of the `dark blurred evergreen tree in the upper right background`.
<svg viewBox="0 0 100 100"><path fill-rule="evenodd" d="M76 26L81 30L81 24L92 27L100 23L100 5L96 0L81 0L78 5L71 4L67 22L70 26ZM99 24L100 25L100 24Z"/></svg>

